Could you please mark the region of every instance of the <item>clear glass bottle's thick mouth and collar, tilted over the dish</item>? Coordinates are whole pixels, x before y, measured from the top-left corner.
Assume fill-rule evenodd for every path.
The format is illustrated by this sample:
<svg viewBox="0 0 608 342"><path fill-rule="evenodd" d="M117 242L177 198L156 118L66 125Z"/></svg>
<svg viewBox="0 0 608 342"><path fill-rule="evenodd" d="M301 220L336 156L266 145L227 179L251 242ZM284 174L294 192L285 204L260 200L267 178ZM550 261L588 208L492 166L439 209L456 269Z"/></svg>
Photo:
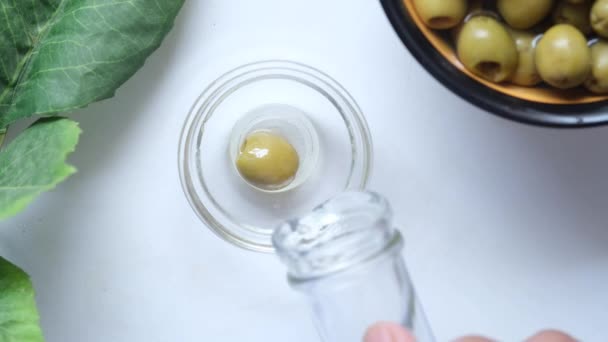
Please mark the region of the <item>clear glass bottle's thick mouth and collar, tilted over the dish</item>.
<svg viewBox="0 0 608 342"><path fill-rule="evenodd" d="M387 201L372 192L346 192L310 214L288 221L273 244L292 283L335 274L385 252L400 251Z"/></svg>

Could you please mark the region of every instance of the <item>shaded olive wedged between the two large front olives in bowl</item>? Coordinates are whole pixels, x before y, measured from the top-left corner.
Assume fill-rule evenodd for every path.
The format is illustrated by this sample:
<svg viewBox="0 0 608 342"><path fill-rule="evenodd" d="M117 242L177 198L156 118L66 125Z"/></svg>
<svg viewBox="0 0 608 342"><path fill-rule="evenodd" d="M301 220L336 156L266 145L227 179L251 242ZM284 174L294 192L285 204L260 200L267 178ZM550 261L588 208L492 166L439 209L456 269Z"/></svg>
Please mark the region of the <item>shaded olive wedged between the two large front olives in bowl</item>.
<svg viewBox="0 0 608 342"><path fill-rule="evenodd" d="M535 35L519 30L511 30L510 32L519 54L519 63L517 63L517 69L511 76L511 82L523 86L533 86L540 83L541 79L534 63Z"/></svg>

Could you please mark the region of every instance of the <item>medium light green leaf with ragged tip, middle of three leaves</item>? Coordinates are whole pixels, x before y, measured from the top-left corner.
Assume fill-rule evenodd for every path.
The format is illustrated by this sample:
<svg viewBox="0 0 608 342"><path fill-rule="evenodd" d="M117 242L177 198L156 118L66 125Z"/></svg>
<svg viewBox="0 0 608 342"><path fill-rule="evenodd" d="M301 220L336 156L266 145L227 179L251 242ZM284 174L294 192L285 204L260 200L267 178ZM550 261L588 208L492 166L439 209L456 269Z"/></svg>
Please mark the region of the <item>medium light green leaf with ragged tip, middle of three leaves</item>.
<svg viewBox="0 0 608 342"><path fill-rule="evenodd" d="M17 214L76 171L65 159L79 135L74 121L42 119L0 151L0 220Z"/></svg>

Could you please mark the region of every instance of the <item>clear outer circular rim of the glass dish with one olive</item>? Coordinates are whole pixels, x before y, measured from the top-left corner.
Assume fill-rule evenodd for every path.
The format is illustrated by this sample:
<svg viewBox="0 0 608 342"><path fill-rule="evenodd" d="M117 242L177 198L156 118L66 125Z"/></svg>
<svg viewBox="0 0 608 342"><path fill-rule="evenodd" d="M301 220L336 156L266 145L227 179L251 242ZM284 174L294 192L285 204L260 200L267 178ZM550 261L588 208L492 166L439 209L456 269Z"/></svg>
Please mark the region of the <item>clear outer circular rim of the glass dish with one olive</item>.
<svg viewBox="0 0 608 342"><path fill-rule="evenodd" d="M298 77L298 75L301 76ZM302 75L312 78L315 83L303 79ZM197 170L196 153L198 152L196 141L200 136L201 128L204 127L206 119L213 115L217 106L221 105L221 102L233 92L252 82L268 79L284 79L308 86L325 96L336 110L340 112L347 126L354 152L345 190L362 190L366 188L372 169L373 147L365 117L350 93L331 76L303 63L289 60L262 60L247 63L224 73L202 91L190 108L180 134L178 169L182 190L197 216L220 238L244 249L272 253L274 252L274 247L272 246L271 233L260 233L260 236L256 237L256 239L248 238L243 236L243 234L239 234L238 229L227 227L221 222L221 220L225 220L226 218L218 219L210 212L209 208L203 203L201 195L207 196L207 200L212 204L216 206L218 204L210 197L202 175L195 172ZM228 85L234 83L236 85L228 87ZM346 108L339 107L338 103L342 103ZM201 183L198 186L203 187L203 193L197 189L197 182ZM234 224L243 229L240 227L243 226L242 224ZM255 231L255 229L249 229L249 231Z"/></svg>

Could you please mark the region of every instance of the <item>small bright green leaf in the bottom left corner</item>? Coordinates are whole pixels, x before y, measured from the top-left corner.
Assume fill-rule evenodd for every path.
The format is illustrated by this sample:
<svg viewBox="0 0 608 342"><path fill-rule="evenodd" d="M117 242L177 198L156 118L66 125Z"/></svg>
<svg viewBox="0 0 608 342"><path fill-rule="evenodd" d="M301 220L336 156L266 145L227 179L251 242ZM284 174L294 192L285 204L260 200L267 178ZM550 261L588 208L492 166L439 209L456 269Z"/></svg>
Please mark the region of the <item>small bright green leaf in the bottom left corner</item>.
<svg viewBox="0 0 608 342"><path fill-rule="evenodd" d="M0 341L44 341L32 283L25 272L0 257Z"/></svg>

